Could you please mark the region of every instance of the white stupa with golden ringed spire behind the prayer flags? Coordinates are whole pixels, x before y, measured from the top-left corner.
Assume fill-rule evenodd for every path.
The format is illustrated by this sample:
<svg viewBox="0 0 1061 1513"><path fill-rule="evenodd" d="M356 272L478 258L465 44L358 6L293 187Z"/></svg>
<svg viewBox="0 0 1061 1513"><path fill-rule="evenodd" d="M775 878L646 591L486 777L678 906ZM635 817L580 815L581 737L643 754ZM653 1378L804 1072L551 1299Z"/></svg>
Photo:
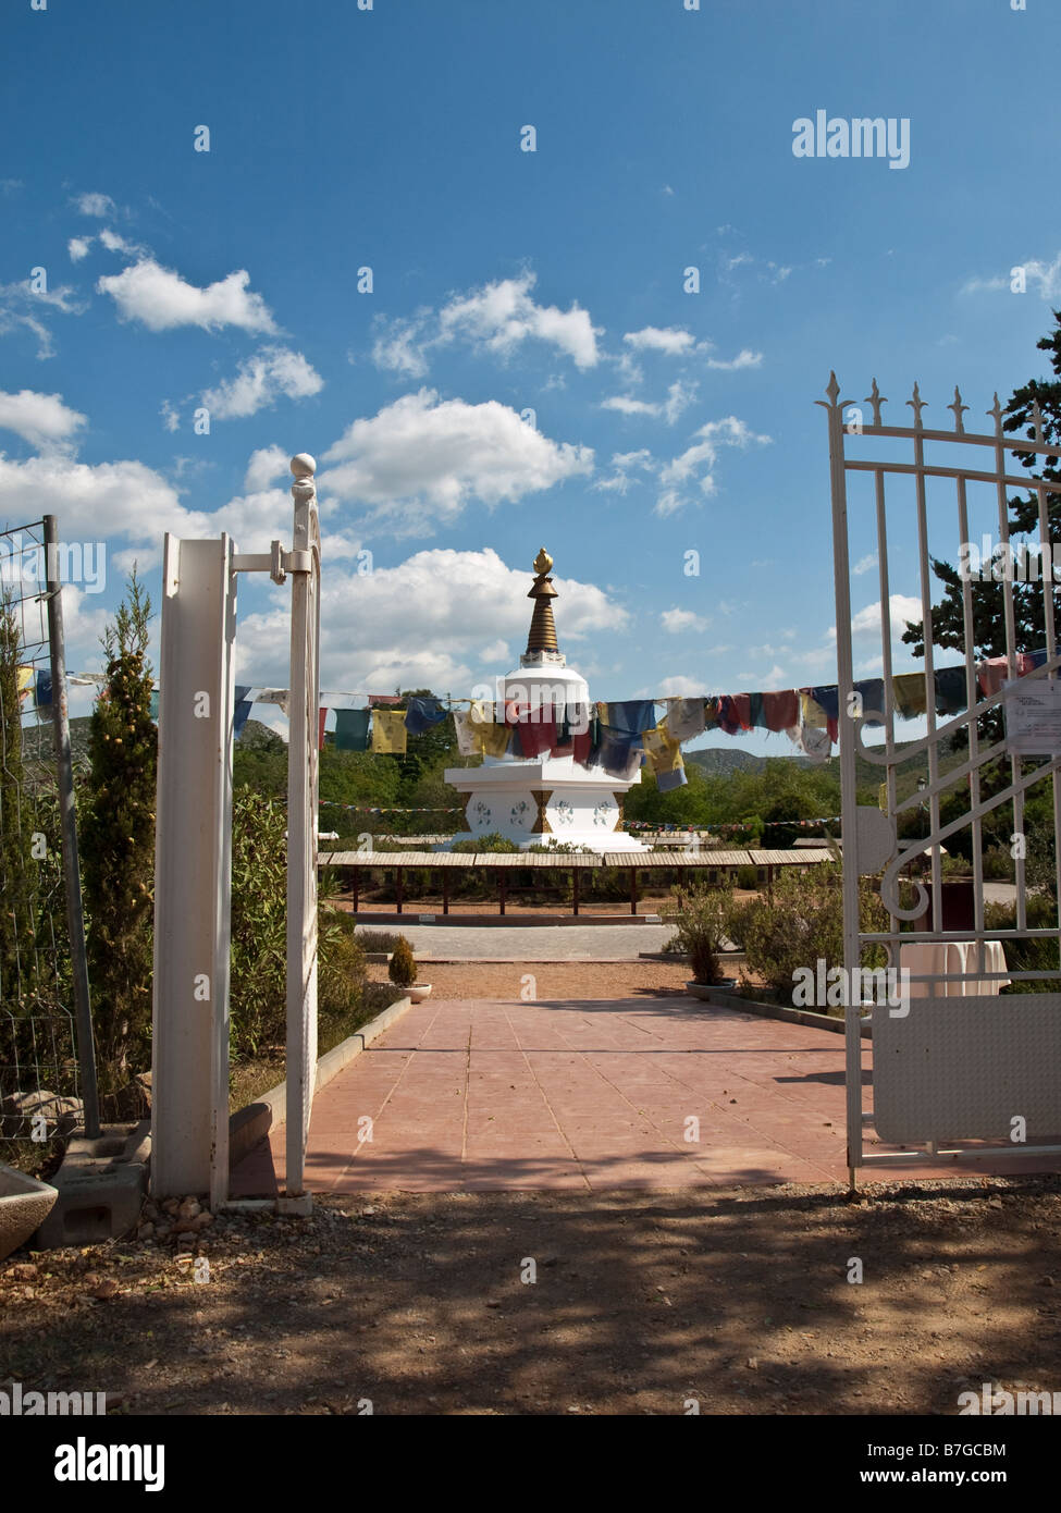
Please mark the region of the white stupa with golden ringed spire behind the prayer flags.
<svg viewBox="0 0 1061 1513"><path fill-rule="evenodd" d="M498 679L498 699L512 699L533 710L566 705L590 711L589 684L568 667L557 646L552 599L557 590L548 576L552 558L540 549L534 560L534 601L527 651L519 670ZM521 850L566 843L595 852L642 852L648 847L618 826L622 800L640 770L613 778L601 767L586 769L574 756L542 755L484 756L480 767L448 767L446 782L468 794L465 816L471 835L504 835ZM468 840L468 835L454 840ZM445 849L445 847L443 847Z"/></svg>

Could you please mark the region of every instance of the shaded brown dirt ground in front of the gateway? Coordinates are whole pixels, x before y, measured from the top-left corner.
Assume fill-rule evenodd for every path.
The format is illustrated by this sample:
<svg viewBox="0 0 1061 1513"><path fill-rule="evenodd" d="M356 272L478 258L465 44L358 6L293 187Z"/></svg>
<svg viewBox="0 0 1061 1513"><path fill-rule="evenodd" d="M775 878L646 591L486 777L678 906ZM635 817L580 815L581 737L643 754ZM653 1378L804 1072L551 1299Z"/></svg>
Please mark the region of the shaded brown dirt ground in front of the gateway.
<svg viewBox="0 0 1061 1513"><path fill-rule="evenodd" d="M200 1282L153 1239L23 1256L0 1380L118 1413L954 1415L982 1381L1059 1390L1061 1180L872 1192L319 1200L216 1219Z"/></svg>

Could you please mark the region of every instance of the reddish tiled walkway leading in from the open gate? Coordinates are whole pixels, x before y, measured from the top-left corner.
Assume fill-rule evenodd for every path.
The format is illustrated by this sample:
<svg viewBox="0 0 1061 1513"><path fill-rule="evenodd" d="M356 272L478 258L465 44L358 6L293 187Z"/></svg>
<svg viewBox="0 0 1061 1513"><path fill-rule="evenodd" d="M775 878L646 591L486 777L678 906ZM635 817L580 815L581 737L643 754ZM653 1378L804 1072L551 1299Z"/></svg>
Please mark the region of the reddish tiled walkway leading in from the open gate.
<svg viewBox="0 0 1061 1513"><path fill-rule="evenodd" d="M689 999L428 1000L316 1095L306 1182L318 1192L842 1182L843 1098L843 1038L828 1030ZM359 1141L365 1117L371 1141ZM283 1154L280 1126L236 1168L233 1194L277 1191ZM975 1167L920 1176L955 1170Z"/></svg>

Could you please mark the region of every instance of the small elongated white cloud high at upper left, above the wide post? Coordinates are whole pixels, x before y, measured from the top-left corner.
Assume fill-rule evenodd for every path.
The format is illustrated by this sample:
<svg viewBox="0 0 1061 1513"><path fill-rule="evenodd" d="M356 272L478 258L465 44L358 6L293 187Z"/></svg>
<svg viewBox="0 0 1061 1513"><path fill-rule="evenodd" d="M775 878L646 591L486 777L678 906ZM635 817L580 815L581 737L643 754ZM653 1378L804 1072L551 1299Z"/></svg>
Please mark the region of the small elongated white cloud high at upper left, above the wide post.
<svg viewBox="0 0 1061 1513"><path fill-rule="evenodd" d="M150 331L171 331L179 325L215 331L238 325L244 331L275 333L265 301L248 292L248 283L250 274L238 268L198 289L153 257L141 257L120 274L98 278L95 287L110 295L124 321L141 321Z"/></svg>

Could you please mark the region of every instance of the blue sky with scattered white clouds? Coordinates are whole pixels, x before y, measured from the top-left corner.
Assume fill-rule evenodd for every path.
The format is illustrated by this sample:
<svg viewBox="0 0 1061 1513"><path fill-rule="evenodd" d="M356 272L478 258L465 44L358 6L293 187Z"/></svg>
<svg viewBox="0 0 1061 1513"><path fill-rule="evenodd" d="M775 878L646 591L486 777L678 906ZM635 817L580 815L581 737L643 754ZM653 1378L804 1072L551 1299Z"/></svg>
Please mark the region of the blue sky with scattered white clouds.
<svg viewBox="0 0 1061 1513"><path fill-rule="evenodd" d="M542 543L596 697L835 681L814 399L919 380L946 425L960 383L972 428L1044 372L1059 36L1047 0L11 0L0 517L107 545L70 664L163 531L288 540L310 451L325 688L509 670ZM908 120L908 166L796 157L819 109ZM286 590L239 599L239 679L286 684ZM866 676L875 604L869 566Z"/></svg>

